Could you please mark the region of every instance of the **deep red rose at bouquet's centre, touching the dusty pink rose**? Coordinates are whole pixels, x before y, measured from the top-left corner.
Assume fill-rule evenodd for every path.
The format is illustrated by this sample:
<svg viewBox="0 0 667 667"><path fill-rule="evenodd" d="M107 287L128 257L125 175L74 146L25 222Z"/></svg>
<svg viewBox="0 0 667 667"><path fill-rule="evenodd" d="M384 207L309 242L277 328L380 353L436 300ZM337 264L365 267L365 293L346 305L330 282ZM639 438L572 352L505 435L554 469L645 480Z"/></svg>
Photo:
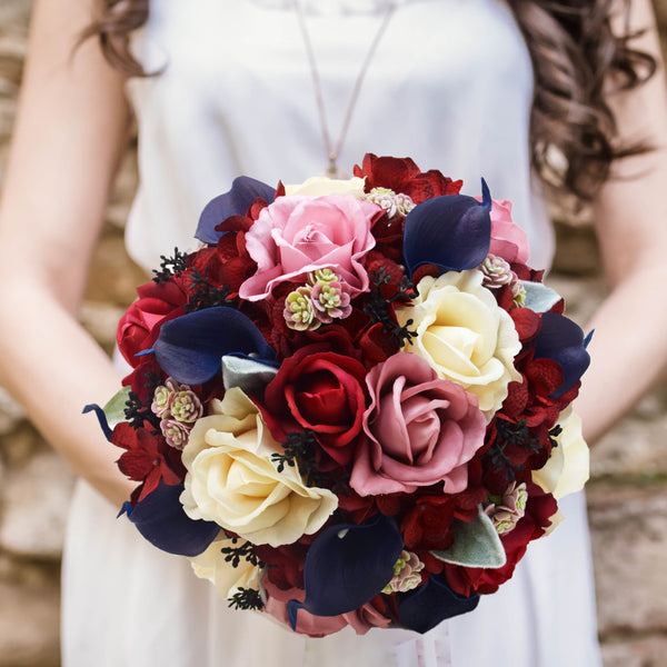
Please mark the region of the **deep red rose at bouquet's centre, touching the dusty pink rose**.
<svg viewBox="0 0 667 667"><path fill-rule="evenodd" d="M266 389L267 419L277 439L311 429L322 449L347 465L366 409L366 369L328 348L309 345L282 362Z"/></svg>

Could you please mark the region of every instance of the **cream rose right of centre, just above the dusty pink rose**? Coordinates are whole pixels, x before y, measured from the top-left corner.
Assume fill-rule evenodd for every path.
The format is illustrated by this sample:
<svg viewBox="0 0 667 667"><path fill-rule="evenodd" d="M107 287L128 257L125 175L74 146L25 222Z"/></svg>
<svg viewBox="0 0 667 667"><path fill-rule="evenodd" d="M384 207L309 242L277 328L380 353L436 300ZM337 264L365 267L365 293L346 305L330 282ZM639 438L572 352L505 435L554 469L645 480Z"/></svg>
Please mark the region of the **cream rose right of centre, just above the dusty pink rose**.
<svg viewBox="0 0 667 667"><path fill-rule="evenodd" d="M412 305L396 311L417 330L405 350L424 357L439 377L458 382L479 399L487 421L521 376L514 358L521 349L514 322L482 287L478 270L448 271L419 281Z"/></svg>

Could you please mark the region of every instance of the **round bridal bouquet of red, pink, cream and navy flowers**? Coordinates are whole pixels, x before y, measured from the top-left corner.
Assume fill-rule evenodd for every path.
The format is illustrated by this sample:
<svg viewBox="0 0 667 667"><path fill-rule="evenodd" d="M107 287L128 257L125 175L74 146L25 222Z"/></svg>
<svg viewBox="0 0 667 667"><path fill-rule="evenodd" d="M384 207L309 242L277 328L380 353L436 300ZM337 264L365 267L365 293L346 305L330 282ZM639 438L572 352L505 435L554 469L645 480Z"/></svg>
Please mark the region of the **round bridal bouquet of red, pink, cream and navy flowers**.
<svg viewBox="0 0 667 667"><path fill-rule="evenodd" d="M511 577L587 477L588 340L510 205L410 159L241 177L118 329L93 409L122 512L230 606L298 633L425 633Z"/></svg>

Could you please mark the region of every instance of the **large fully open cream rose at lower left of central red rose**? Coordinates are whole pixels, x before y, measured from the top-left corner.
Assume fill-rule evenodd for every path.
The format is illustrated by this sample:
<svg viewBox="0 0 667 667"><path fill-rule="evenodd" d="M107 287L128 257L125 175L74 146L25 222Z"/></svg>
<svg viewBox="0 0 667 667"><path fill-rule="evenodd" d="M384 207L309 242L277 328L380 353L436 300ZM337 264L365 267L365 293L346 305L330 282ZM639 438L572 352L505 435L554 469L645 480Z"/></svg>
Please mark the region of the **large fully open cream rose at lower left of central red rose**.
<svg viewBox="0 0 667 667"><path fill-rule="evenodd" d="M211 401L183 449L186 475L180 500L191 519L272 547L319 530L338 506L328 489L308 487L299 471L278 472L271 455L282 447L257 406L239 388Z"/></svg>

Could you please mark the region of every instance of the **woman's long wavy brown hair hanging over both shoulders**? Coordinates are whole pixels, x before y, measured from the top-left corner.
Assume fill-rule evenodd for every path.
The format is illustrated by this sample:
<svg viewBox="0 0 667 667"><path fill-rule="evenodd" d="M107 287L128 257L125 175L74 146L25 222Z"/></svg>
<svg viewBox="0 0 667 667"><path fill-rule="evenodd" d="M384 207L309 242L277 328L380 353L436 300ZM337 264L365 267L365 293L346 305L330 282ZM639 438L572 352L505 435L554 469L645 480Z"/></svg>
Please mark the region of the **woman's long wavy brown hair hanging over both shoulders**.
<svg viewBox="0 0 667 667"><path fill-rule="evenodd" d="M119 71L147 76L129 49L130 34L148 19L149 0L102 0L97 34ZM465 1L465 0L461 0ZM653 76L655 59L633 47L636 34L615 36L611 6L629 12L630 0L508 0L532 59L535 97L531 160L555 195L594 198L610 166L646 146L618 146L616 120L606 101L609 81L631 89Z"/></svg>

